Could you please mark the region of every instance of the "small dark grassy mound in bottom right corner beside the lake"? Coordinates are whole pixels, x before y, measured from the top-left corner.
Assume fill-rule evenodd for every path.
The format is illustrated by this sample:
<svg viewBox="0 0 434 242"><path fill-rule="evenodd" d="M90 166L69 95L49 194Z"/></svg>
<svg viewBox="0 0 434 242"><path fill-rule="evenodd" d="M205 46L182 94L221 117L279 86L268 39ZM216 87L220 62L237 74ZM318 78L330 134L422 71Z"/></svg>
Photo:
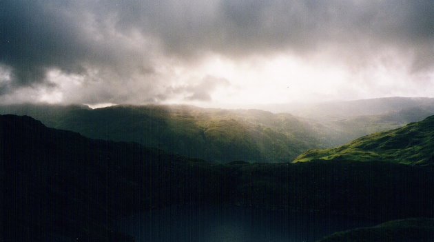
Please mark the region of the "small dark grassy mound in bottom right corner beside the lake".
<svg viewBox="0 0 434 242"><path fill-rule="evenodd" d="M402 219L371 228L338 232L318 242L429 242L434 241L434 219Z"/></svg>

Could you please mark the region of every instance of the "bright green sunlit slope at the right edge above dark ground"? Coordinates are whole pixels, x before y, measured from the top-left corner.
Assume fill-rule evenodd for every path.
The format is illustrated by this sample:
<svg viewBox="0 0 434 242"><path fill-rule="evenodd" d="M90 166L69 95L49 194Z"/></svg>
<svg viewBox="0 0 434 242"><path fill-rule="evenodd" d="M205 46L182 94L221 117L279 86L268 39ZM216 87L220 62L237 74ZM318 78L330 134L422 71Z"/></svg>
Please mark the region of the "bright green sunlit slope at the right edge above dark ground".
<svg viewBox="0 0 434 242"><path fill-rule="evenodd" d="M293 162L324 160L391 161L434 165L434 116L402 128L369 134L327 150L308 150Z"/></svg>

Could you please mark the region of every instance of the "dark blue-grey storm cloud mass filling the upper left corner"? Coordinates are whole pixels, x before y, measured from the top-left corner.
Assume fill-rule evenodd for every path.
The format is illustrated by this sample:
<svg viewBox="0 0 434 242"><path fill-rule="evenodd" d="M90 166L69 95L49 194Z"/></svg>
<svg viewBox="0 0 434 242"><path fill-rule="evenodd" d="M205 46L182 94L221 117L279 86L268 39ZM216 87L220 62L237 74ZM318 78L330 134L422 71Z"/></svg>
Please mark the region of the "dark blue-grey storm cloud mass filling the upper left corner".
<svg viewBox="0 0 434 242"><path fill-rule="evenodd" d="M109 16L89 12L98 10L89 7L74 1L0 1L0 63L12 68L12 81L1 88L53 85L46 79L50 68L74 74L88 67L109 68L120 76L133 68L152 72L136 64L146 54L115 39L107 26Z"/></svg>

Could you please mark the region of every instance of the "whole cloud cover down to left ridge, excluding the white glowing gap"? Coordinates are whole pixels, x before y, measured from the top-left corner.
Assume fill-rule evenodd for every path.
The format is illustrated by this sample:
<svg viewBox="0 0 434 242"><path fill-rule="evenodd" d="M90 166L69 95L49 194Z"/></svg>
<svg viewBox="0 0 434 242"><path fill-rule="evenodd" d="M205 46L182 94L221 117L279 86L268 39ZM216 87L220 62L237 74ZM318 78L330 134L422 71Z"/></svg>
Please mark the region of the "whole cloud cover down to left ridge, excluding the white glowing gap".
<svg viewBox="0 0 434 242"><path fill-rule="evenodd" d="M209 57L282 53L432 81L434 1L0 1L3 101L209 101L240 83L197 71Z"/></svg>

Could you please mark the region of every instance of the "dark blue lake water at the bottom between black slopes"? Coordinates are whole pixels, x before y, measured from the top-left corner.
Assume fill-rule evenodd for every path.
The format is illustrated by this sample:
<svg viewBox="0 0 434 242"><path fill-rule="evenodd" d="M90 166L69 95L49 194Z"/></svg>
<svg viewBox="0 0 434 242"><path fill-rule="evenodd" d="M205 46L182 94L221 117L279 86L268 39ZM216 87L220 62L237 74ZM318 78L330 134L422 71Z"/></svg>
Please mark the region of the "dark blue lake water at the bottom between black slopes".
<svg viewBox="0 0 434 242"><path fill-rule="evenodd" d="M115 226L153 242L311 242L376 223L345 216L319 216L254 208L174 206L130 216Z"/></svg>

